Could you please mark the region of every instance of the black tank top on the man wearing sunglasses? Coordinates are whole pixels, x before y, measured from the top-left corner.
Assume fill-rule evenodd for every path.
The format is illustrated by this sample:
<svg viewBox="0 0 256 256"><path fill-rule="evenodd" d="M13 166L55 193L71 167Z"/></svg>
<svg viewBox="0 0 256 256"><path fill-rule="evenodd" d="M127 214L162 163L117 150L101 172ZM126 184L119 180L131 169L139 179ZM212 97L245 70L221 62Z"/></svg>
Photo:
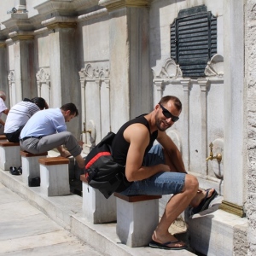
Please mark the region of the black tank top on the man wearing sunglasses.
<svg viewBox="0 0 256 256"><path fill-rule="evenodd" d="M144 155L148 153L150 148L152 148L154 140L157 138L158 131L154 131L152 134L150 134L148 120L144 118L144 115L146 114L140 115L136 119L131 119L130 121L125 123L125 125L121 126L121 128L119 129L119 131L113 139L113 160L119 163L120 165L125 166L128 149L130 147L130 143L127 143L124 138L124 131L128 126L139 123L145 125L148 128L150 141L148 143L148 147L144 152Z"/></svg>

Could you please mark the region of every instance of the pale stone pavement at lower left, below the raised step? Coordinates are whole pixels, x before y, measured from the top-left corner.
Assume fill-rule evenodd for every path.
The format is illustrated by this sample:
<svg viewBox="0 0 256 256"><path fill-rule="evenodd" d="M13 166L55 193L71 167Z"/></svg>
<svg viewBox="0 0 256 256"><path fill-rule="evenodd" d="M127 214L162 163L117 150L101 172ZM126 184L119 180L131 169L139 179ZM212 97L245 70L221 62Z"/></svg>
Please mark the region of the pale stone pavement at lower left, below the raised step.
<svg viewBox="0 0 256 256"><path fill-rule="evenodd" d="M103 255L2 183L0 212L0 255Z"/></svg>

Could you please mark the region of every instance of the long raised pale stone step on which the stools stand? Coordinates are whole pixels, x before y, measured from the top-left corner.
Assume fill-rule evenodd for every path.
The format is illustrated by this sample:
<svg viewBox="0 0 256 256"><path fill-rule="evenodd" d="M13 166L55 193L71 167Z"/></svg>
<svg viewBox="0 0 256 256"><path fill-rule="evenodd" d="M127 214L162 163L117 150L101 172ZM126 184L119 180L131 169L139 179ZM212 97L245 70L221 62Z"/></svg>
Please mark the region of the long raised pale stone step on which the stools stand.
<svg viewBox="0 0 256 256"><path fill-rule="evenodd" d="M96 247L104 255L195 255L189 252L189 250L169 251L150 247L128 247L119 241L116 235L116 223L90 224L86 221L82 211L83 200L79 195L47 197L40 193L39 187L27 187L22 182L21 176L13 176L1 169L0 181L47 214L57 224L60 224L66 230L70 230L74 236L79 237L79 239L90 244L92 247Z"/></svg>

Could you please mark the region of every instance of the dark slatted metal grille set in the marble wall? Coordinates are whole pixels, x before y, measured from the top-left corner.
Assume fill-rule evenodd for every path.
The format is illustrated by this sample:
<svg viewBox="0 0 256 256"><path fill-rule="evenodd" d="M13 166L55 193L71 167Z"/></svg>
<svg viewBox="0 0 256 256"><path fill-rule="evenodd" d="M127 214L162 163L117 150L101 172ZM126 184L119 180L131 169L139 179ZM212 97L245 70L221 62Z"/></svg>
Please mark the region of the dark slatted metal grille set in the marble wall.
<svg viewBox="0 0 256 256"><path fill-rule="evenodd" d="M207 7L183 9L171 25L171 57L183 77L205 77L207 61L217 53L217 18Z"/></svg>

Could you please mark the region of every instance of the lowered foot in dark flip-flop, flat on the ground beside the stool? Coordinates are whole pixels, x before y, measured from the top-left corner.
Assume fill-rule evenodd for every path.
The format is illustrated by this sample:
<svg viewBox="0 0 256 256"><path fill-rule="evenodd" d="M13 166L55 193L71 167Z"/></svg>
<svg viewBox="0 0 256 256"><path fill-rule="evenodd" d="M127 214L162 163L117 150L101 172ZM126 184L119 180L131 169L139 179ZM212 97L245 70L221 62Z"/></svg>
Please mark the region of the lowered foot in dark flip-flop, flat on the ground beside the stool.
<svg viewBox="0 0 256 256"><path fill-rule="evenodd" d="M175 236L172 236L169 232L165 234L165 236L161 236L156 234L154 231L152 235L152 241L149 244L150 247L158 247L158 248L170 248L170 249L183 249L186 247L186 244L183 241L178 241Z"/></svg>

